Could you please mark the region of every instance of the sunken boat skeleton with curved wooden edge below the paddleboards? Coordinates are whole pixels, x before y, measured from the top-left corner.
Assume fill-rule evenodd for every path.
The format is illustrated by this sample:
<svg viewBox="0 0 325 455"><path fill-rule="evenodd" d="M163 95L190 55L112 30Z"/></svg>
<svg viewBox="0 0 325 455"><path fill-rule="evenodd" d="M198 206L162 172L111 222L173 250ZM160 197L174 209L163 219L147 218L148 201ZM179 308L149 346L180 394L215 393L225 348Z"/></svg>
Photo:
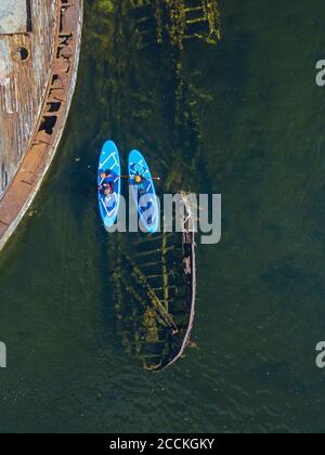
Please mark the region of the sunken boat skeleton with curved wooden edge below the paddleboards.
<svg viewBox="0 0 325 455"><path fill-rule="evenodd" d="M113 276L118 332L126 352L158 372L174 364L191 343L196 303L195 231L185 207L181 234L119 244Z"/></svg>

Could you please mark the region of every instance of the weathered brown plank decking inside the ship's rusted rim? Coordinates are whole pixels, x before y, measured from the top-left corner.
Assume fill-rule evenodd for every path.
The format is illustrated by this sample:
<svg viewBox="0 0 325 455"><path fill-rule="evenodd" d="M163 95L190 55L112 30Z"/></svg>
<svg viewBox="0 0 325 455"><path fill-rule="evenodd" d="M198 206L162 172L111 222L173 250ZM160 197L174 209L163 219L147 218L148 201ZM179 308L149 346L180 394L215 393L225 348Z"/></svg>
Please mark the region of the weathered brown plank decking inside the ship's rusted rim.
<svg viewBox="0 0 325 455"><path fill-rule="evenodd" d="M31 34L0 35L0 197L27 152L53 61L57 1L34 0L31 8ZM18 49L29 52L26 62L15 60Z"/></svg>

